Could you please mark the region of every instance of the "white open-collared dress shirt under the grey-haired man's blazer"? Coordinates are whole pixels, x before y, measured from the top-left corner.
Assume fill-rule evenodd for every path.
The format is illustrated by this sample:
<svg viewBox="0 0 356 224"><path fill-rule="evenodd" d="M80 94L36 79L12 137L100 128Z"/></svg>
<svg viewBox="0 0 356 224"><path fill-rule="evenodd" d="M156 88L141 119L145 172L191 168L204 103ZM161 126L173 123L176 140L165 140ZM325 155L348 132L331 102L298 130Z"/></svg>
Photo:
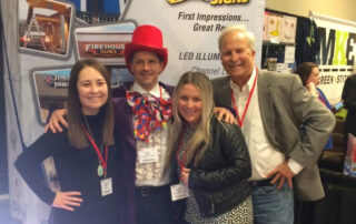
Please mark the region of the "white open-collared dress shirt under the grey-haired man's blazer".
<svg viewBox="0 0 356 224"><path fill-rule="evenodd" d="M230 86L235 98L235 105L240 118L244 114L249 93L253 89L255 79L257 79L257 69L255 68L248 82L241 89L230 81ZM268 130L264 129L260 116L257 80L256 86L251 94L253 95L243 121L241 131L244 133L251 159L253 175L250 181L256 181L266 179L266 175L271 170L284 163L286 157L283 153L273 147L266 135L266 131ZM288 161L288 166L295 174L299 173L303 169L300 164L291 159Z"/></svg>

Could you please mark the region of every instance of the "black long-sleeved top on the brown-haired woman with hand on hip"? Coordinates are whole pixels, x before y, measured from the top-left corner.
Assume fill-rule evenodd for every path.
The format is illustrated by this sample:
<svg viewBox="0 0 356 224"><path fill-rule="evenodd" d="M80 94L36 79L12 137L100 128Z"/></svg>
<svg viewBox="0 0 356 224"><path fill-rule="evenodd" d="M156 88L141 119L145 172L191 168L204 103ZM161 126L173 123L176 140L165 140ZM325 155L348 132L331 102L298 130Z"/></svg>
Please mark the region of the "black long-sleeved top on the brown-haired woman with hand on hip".
<svg viewBox="0 0 356 224"><path fill-rule="evenodd" d="M100 130L98 116L87 116L87 120L93 135L98 135L97 130ZM105 149L102 151L105 152ZM49 156L53 156L61 192L81 192L83 200L81 206L75 207L75 212L52 207L50 223L119 223L118 181L120 180L118 153L113 145L108 150L107 172L107 177L112 179L113 193L106 196L101 196L100 181L105 177L100 177L97 173L99 159L95 149L91 144L88 149L72 147L65 130L62 133L43 134L23 151L14 164L27 184L43 202L51 205L56 196L43 182L42 173L38 169Z"/></svg>

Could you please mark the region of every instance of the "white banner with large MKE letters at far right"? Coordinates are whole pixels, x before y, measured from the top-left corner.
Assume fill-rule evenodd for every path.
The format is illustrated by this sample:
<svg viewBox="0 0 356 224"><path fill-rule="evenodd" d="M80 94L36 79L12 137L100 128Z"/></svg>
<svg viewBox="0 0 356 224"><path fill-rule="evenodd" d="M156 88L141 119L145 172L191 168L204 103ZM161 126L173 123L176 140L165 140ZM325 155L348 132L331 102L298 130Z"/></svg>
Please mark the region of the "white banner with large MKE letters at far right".
<svg viewBox="0 0 356 224"><path fill-rule="evenodd" d="M356 23L313 13L320 35L317 63L320 70L319 88L332 104L342 98L344 82L353 72L356 53Z"/></svg>

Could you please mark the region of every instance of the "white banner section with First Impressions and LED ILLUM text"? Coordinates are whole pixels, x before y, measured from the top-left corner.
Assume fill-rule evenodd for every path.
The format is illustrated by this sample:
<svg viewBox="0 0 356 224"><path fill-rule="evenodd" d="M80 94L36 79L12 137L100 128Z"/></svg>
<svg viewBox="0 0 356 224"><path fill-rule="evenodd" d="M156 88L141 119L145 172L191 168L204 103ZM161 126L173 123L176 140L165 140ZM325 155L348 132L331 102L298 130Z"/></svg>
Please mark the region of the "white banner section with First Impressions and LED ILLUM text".
<svg viewBox="0 0 356 224"><path fill-rule="evenodd" d="M256 34L256 64L260 64L264 0L150 0L128 1L122 20L154 24L164 33L168 65L160 80L176 84L189 70L210 79L225 75L218 37L230 24L245 24Z"/></svg>

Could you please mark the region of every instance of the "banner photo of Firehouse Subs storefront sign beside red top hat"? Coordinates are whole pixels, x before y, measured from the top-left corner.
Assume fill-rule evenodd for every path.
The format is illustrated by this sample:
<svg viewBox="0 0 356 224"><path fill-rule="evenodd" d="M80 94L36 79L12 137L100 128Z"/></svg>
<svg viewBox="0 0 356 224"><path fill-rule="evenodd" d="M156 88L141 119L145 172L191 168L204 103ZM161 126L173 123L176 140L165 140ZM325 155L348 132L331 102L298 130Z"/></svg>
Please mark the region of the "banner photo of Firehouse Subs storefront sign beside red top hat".
<svg viewBox="0 0 356 224"><path fill-rule="evenodd" d="M96 59L111 73L111 88L134 78L126 69L125 44L131 41L134 22L87 26L75 29L75 52L78 60Z"/></svg>

